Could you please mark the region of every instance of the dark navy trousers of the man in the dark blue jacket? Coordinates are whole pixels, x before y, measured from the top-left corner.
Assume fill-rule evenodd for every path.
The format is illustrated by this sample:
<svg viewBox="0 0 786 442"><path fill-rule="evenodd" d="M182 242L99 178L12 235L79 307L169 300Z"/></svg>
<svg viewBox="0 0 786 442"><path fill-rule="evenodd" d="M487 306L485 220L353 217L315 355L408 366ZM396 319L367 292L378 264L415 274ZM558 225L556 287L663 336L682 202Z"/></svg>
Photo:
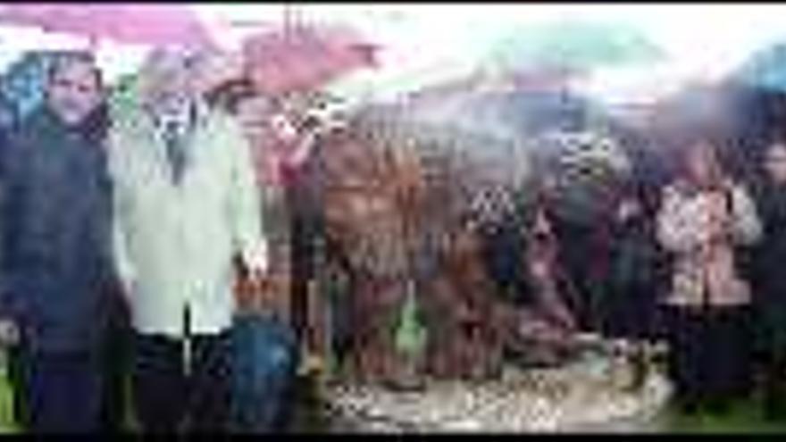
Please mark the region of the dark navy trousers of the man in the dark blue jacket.
<svg viewBox="0 0 786 442"><path fill-rule="evenodd" d="M94 354L29 354L24 377L33 432L100 429L101 371Z"/></svg>

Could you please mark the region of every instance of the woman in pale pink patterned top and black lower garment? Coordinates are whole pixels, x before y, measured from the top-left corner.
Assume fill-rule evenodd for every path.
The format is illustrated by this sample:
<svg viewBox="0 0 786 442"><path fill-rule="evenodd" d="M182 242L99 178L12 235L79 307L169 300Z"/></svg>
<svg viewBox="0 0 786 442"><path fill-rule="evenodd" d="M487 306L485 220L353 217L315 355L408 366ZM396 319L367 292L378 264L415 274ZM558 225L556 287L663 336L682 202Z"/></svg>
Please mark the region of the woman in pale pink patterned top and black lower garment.
<svg viewBox="0 0 786 442"><path fill-rule="evenodd" d="M664 188L656 217L656 236L672 266L664 301L669 365L687 411L699 404L723 409L748 392L751 296L737 261L739 247L756 242L761 226L746 188L723 170L713 140L698 134L683 146L682 173Z"/></svg>

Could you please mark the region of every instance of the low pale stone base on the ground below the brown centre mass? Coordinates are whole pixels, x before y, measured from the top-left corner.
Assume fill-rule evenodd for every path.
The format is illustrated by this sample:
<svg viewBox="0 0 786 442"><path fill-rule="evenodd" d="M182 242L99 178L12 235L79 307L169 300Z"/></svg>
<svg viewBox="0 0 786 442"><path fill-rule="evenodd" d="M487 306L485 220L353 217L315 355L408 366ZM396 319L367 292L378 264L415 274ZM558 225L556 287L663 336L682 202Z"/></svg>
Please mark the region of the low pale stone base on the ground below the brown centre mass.
<svg viewBox="0 0 786 442"><path fill-rule="evenodd" d="M343 386L326 398L332 428L383 433L444 432L646 432L671 388L650 371L635 390L580 365L507 370L480 383L433 380L420 392Z"/></svg>

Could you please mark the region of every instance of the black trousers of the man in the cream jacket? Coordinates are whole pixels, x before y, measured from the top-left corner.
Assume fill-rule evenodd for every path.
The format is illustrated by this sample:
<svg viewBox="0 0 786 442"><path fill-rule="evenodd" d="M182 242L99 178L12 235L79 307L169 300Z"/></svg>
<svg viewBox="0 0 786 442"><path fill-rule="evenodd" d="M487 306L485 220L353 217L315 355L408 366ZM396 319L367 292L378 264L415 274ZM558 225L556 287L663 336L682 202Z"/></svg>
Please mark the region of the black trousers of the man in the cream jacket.
<svg viewBox="0 0 786 442"><path fill-rule="evenodd" d="M230 337L191 338L188 372L182 341L137 335L134 354L134 405L144 431L174 433L183 421L197 431L230 428Z"/></svg>

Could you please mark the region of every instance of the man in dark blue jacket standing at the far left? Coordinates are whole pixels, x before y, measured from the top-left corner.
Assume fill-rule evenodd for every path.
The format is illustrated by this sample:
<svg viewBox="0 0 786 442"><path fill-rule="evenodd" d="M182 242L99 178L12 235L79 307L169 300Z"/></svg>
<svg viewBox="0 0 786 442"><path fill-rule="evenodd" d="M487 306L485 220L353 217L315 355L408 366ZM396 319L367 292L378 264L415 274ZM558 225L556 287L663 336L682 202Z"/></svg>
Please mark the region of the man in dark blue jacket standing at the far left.
<svg viewBox="0 0 786 442"><path fill-rule="evenodd" d="M101 79L87 54L54 63L46 102L8 144L3 325L28 354L34 431L100 424L99 348L113 281Z"/></svg>

